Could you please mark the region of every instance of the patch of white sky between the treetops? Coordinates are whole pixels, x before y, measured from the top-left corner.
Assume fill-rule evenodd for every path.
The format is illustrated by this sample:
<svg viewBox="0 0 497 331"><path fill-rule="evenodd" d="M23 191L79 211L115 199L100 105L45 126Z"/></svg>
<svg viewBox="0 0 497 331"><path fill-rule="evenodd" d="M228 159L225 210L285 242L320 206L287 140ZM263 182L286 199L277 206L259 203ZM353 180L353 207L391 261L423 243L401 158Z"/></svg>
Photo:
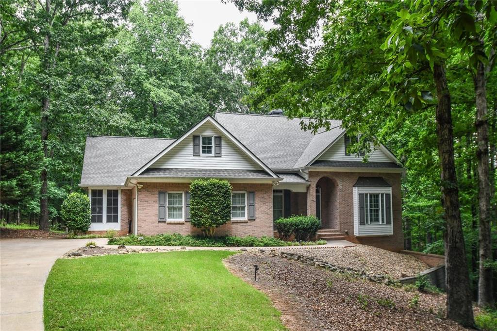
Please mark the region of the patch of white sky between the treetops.
<svg viewBox="0 0 497 331"><path fill-rule="evenodd" d="M186 23L193 24L192 40L207 48L219 25L234 22L238 25L248 17L250 23L257 20L254 13L240 12L233 3L221 3L221 0L178 0L179 14ZM267 30L273 26L270 22L261 22Z"/></svg>

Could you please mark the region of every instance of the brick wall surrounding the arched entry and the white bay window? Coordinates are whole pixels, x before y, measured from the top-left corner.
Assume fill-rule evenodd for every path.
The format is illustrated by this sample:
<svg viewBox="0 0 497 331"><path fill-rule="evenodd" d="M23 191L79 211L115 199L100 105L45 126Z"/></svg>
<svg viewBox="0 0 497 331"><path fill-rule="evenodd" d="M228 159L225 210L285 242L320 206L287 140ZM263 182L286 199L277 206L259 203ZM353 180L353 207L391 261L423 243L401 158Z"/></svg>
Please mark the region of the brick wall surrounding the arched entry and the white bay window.
<svg viewBox="0 0 497 331"><path fill-rule="evenodd" d="M338 192L338 230L348 235L348 241L371 245L379 248L399 251L404 248L404 234L402 232L402 199L401 199L401 174L400 173L375 173L375 172L327 172L310 171L309 189L307 192L307 213L316 215L316 185L322 177L329 177L336 183ZM393 211L393 236L380 237L355 237L353 218L353 190L352 187L359 176L381 176L392 185L392 211ZM326 194L323 189L324 194Z"/></svg>

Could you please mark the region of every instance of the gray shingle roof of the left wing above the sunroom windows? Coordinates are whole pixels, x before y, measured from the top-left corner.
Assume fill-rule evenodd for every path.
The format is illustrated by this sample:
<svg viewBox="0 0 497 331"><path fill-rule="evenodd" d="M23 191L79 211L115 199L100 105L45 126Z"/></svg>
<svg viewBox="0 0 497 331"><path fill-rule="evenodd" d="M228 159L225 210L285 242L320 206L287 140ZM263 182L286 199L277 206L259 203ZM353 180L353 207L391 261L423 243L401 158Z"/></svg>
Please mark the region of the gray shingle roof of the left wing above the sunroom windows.
<svg viewBox="0 0 497 331"><path fill-rule="evenodd" d="M81 186L122 185L174 139L86 137Z"/></svg>

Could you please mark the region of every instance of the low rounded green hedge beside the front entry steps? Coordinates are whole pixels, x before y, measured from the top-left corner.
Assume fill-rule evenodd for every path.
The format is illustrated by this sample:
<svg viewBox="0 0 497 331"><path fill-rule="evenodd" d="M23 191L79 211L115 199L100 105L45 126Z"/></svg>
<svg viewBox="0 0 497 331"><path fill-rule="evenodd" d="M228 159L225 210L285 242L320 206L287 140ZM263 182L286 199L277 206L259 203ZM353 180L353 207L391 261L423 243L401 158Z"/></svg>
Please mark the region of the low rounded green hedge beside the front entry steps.
<svg viewBox="0 0 497 331"><path fill-rule="evenodd" d="M316 236L321 227L316 216L291 216L280 218L274 222L278 235L283 240L288 240L292 235L296 241L308 241Z"/></svg>

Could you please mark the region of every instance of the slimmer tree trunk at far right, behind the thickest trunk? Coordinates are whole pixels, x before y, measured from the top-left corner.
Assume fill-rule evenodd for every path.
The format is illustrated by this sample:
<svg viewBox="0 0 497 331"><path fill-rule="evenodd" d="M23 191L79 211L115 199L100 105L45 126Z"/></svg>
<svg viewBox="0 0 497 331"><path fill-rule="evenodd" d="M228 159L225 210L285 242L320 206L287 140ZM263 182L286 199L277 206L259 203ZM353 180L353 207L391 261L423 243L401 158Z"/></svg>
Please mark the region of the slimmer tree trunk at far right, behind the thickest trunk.
<svg viewBox="0 0 497 331"><path fill-rule="evenodd" d="M485 89L485 65L478 63L474 76L476 94L476 130L478 158L478 203L480 207L480 265L478 280L478 305L491 306L494 303L492 268L486 262L492 261L490 236L490 174L489 174L489 123L487 91Z"/></svg>

